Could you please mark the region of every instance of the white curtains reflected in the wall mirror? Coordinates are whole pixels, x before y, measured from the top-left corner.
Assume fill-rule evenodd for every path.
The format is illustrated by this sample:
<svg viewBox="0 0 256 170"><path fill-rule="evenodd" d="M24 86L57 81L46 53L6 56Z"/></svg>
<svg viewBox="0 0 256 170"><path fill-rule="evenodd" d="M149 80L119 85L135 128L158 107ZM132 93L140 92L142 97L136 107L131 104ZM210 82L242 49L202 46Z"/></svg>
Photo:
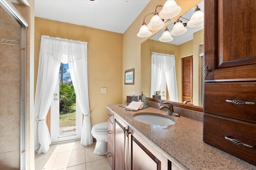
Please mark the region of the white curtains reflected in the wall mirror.
<svg viewBox="0 0 256 170"><path fill-rule="evenodd" d="M178 90L176 80L175 56L169 54L152 53L151 88L150 95L154 95L160 89L162 74L165 74L169 98L178 102Z"/></svg>

